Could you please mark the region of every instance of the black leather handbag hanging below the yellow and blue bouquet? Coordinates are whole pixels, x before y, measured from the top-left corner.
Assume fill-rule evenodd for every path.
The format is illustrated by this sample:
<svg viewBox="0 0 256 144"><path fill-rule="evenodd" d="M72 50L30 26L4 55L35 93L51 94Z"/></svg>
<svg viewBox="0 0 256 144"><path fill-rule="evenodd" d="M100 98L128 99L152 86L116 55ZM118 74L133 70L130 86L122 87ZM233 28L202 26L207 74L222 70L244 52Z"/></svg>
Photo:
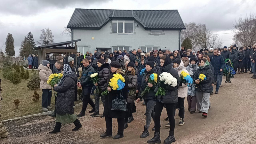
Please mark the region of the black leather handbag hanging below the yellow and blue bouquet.
<svg viewBox="0 0 256 144"><path fill-rule="evenodd" d="M124 100L123 92L120 92L120 98L118 95L115 100L112 100L112 108L111 110L119 110L119 111L127 111L127 101Z"/></svg>

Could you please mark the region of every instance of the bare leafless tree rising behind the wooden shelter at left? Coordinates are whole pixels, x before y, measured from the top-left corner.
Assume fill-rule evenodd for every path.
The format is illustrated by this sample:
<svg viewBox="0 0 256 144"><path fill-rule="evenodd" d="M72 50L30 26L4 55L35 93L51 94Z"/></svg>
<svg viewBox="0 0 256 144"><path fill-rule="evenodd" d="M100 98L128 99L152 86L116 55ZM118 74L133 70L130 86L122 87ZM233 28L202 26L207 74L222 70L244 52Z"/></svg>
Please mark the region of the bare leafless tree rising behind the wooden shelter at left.
<svg viewBox="0 0 256 144"><path fill-rule="evenodd" d="M36 43L39 45L46 45L46 44L53 44L53 35L52 35L52 30L49 28L45 28L41 30L42 34L39 37L39 41L37 41Z"/></svg>

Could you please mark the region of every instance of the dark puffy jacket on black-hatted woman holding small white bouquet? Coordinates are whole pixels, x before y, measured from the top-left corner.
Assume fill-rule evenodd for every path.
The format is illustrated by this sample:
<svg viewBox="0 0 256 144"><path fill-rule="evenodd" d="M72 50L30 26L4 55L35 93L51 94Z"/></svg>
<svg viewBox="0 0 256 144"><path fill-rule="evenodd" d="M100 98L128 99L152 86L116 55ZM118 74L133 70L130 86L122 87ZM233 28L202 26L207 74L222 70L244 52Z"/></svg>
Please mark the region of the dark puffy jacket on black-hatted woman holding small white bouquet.
<svg viewBox="0 0 256 144"><path fill-rule="evenodd" d="M98 88L101 92L104 92L107 87L107 80L108 77L110 76L110 72L109 72L109 64L108 63L104 63L103 65L101 65L100 68L98 68Z"/></svg>

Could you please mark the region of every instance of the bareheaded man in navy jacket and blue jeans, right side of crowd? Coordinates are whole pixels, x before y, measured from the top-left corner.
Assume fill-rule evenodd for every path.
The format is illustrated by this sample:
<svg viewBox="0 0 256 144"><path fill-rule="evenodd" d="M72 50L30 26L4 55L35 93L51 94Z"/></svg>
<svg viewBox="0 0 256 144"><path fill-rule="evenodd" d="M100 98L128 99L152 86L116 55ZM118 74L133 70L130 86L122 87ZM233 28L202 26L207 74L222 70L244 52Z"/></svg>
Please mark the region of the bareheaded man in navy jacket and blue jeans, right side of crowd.
<svg viewBox="0 0 256 144"><path fill-rule="evenodd" d="M217 82L216 84L216 90L215 90L215 94L219 93L219 87L220 87L220 75L221 72L224 70L225 68L225 61L224 58L218 54L219 50L218 49L214 49L213 50L213 56L210 57L211 62L212 62L212 66L214 68L214 81Z"/></svg>

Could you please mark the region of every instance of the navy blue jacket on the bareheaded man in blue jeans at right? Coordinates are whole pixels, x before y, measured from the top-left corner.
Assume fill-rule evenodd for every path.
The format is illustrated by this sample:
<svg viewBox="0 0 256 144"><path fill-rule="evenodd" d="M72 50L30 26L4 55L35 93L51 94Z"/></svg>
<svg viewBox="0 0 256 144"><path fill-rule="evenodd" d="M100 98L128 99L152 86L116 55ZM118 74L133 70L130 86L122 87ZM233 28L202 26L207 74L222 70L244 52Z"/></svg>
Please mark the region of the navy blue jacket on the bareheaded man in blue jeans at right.
<svg viewBox="0 0 256 144"><path fill-rule="evenodd" d="M215 75L221 75L220 69L224 70L225 68L225 61L221 55L213 55L210 57L212 66L214 68Z"/></svg>

